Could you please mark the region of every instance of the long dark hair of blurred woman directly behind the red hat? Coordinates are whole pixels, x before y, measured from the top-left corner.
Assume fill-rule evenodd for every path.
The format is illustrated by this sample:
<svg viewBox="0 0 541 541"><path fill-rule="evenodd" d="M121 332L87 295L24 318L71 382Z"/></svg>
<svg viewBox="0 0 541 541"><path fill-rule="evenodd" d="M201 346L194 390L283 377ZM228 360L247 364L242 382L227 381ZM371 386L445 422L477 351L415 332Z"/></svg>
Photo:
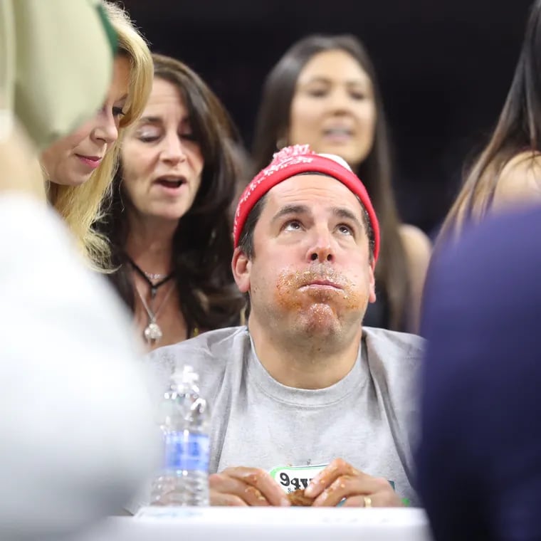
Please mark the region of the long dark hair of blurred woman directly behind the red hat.
<svg viewBox="0 0 541 541"><path fill-rule="evenodd" d="M312 56L323 51L345 51L367 73L374 89L376 127L374 145L355 173L368 190L381 228L381 251L376 267L376 283L389 301L390 325L404 330L409 295L406 253L399 233L399 216L392 190L391 155L387 122L374 66L359 40L354 36L308 36L291 46L274 66L263 86L263 97L256 121L253 161L256 171L266 167L277 150L277 142L288 133L291 103L300 72ZM304 141L288 141L288 144Z"/></svg>

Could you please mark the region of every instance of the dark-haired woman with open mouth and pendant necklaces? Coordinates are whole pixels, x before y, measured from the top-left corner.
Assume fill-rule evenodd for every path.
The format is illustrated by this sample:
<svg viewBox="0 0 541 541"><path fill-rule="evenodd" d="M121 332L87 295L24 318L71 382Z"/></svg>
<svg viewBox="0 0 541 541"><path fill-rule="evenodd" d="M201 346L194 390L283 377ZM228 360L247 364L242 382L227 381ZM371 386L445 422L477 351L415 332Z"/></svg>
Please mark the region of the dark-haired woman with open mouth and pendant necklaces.
<svg viewBox="0 0 541 541"><path fill-rule="evenodd" d="M237 325L244 303L231 273L231 121L196 73L153 58L152 93L97 224L112 245L110 279L149 349Z"/></svg>

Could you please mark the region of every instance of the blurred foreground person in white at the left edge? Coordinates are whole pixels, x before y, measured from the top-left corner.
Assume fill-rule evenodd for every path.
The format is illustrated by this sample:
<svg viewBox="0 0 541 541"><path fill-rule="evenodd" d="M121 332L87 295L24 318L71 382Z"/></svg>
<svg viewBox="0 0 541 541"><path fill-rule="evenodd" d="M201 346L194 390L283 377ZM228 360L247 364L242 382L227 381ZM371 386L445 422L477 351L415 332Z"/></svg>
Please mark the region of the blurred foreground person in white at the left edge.
<svg viewBox="0 0 541 541"><path fill-rule="evenodd" d="M29 114L40 110L39 95L26 101L24 126L14 115L20 96L11 75L23 77L38 54L20 35L25 23L38 20L55 39L32 43L61 54L50 55L47 72L58 88L44 81L43 103L75 70L88 81L80 100L88 106L103 99L110 80L107 22L90 1L0 4L7 43L0 61L19 62L0 74L0 538L56 540L122 507L152 471L158 435L129 317L46 204L37 156L48 129ZM91 90L94 80L103 88ZM83 114L73 101L57 104L65 127Z"/></svg>

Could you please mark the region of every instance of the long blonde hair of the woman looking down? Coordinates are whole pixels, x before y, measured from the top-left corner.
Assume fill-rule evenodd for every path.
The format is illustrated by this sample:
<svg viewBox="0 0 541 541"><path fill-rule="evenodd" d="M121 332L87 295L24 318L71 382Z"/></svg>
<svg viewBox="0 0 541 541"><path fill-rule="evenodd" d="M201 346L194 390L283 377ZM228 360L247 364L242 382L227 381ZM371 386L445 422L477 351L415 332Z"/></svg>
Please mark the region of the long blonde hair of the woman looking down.
<svg viewBox="0 0 541 541"><path fill-rule="evenodd" d="M109 195L112 179L118 166L120 144L127 126L137 120L147 105L152 90L152 56L145 39L137 31L126 11L112 2L103 2L107 17L118 38L117 55L130 60L130 83L125 115L120 120L117 141L107 149L100 167L82 186L55 184L49 199L58 214L75 235L81 250L97 270L109 267L107 239L93 231L92 224L100 216L102 202Z"/></svg>

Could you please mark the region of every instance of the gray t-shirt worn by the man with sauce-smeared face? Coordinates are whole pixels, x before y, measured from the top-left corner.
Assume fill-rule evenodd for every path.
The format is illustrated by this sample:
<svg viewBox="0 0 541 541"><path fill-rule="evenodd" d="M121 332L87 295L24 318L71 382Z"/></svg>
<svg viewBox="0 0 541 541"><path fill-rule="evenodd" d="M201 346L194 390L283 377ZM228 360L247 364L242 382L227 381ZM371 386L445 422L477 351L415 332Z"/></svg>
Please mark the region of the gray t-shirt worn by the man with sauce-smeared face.
<svg viewBox="0 0 541 541"><path fill-rule="evenodd" d="M369 475L387 478L416 505L411 442L423 342L415 335L364 327L350 373L315 390L285 387L273 379L246 327L159 348L146 362L157 375L157 401L174 369L190 364L199 373L201 395L212 409L211 473L229 466L263 468L289 491L320 469L313 466L343 458Z"/></svg>

